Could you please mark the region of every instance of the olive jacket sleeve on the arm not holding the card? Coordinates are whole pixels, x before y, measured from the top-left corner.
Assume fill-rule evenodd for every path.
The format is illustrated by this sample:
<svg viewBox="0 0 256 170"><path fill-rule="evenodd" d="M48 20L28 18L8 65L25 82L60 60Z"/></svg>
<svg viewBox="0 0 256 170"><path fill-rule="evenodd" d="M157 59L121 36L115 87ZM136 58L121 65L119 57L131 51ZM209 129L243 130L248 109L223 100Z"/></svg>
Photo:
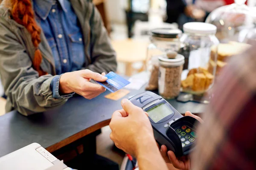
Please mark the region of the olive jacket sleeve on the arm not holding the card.
<svg viewBox="0 0 256 170"><path fill-rule="evenodd" d="M90 52L92 64L86 69L98 73L116 71L116 52L114 51L108 33L103 25L101 15L94 6L90 21L91 42Z"/></svg>

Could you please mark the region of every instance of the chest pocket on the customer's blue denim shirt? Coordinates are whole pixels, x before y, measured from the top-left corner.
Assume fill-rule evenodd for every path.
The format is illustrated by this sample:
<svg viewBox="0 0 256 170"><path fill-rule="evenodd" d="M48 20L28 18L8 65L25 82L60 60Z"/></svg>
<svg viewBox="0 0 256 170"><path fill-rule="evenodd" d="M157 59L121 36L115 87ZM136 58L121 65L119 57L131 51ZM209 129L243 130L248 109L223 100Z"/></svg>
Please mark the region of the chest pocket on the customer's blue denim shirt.
<svg viewBox="0 0 256 170"><path fill-rule="evenodd" d="M69 34L69 37L71 42L71 58L73 61L73 66L75 66L77 69L81 69L85 62L82 34L79 31L75 34Z"/></svg>

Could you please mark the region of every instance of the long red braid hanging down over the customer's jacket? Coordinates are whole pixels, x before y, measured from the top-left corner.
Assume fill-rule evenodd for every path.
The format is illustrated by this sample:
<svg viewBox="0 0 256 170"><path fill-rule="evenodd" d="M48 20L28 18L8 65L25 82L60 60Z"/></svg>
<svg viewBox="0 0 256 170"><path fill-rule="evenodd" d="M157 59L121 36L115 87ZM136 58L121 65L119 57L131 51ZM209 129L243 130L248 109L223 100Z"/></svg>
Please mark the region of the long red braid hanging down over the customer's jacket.
<svg viewBox="0 0 256 170"><path fill-rule="evenodd" d="M42 62L42 54L38 49L38 45L41 42L40 34L41 29L35 22L34 11L30 0L10 0L12 5L12 18L24 26L30 33L32 43L35 47L34 59L32 61L33 68L38 71L39 76L47 74L40 67Z"/></svg>

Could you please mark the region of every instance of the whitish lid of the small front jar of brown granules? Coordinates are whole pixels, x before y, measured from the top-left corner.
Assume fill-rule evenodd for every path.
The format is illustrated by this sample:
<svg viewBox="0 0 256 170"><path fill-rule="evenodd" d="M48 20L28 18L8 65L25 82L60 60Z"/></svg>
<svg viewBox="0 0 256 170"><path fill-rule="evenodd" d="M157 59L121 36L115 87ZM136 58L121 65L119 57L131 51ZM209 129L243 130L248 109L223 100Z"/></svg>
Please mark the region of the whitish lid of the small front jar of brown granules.
<svg viewBox="0 0 256 170"><path fill-rule="evenodd" d="M160 65L166 66L180 66L183 65L185 62L185 57L181 54L177 54L175 59L168 59L165 57L158 57Z"/></svg>

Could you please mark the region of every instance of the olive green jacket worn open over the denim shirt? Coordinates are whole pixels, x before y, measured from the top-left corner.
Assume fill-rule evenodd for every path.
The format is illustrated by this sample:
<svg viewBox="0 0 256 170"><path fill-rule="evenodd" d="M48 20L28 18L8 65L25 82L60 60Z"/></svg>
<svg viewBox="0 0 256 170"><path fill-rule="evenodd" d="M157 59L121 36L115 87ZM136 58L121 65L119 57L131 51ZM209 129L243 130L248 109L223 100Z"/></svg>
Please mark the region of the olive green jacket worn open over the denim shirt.
<svg viewBox="0 0 256 170"><path fill-rule="evenodd" d="M99 11L90 0L70 0L81 24L84 51L95 72L116 71L116 54L111 46ZM51 48L44 33L39 49L43 56L41 68L48 73L38 76L32 68L35 48L24 26L10 19L5 0L0 5L0 77L7 96L6 112L17 110L27 116L64 104L67 99L52 97L50 83L55 73Z"/></svg>

